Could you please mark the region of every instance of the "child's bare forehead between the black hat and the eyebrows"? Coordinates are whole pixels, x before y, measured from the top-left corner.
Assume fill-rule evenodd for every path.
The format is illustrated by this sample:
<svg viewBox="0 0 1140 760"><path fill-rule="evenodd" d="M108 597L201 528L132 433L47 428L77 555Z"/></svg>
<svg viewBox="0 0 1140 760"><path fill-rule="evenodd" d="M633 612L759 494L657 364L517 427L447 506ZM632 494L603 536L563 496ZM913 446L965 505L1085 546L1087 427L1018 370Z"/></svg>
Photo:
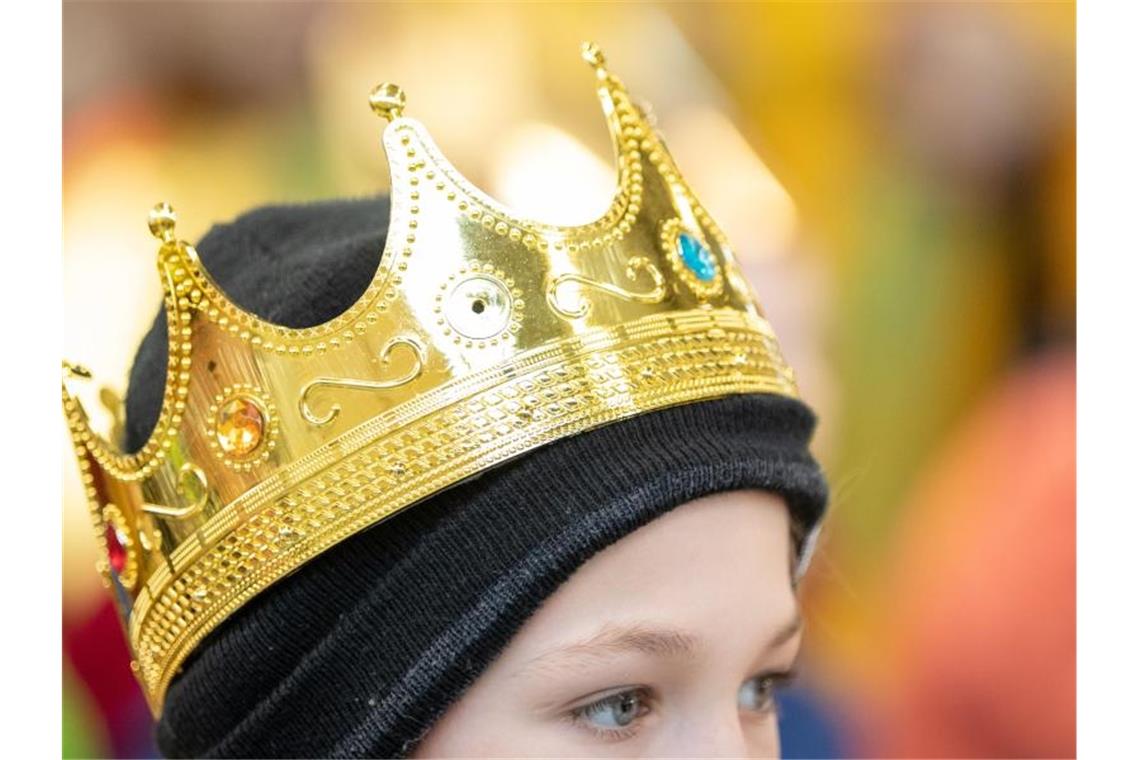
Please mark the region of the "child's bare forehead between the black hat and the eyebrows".
<svg viewBox="0 0 1140 760"><path fill-rule="evenodd" d="M526 656L589 637L600 624L645 621L711 643L741 631L764 638L796 616L790 551L780 497L733 491L687 502L585 563L514 648Z"/></svg>

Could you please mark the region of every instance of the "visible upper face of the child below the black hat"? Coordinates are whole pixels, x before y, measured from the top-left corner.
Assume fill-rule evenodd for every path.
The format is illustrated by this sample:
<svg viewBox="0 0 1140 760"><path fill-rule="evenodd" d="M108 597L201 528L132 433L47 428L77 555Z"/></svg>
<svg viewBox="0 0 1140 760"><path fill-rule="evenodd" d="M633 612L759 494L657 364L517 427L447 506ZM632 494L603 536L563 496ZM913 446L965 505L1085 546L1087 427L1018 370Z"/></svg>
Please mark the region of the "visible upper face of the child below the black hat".
<svg viewBox="0 0 1140 760"><path fill-rule="evenodd" d="M417 755L777 755L790 565L780 497L678 507L584 564Z"/></svg>

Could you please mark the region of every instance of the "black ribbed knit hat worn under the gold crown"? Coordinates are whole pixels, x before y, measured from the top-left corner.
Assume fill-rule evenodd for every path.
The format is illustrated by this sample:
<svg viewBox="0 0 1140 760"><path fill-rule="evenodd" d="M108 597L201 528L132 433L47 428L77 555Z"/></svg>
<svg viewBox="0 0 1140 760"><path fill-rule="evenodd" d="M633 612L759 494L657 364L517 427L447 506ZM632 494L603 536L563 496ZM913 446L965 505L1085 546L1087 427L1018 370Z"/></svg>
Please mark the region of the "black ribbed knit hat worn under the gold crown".
<svg viewBox="0 0 1140 760"><path fill-rule="evenodd" d="M388 201L268 207L197 246L230 299L288 327L328 321L380 263ZM160 313L131 368L127 447L162 406ZM157 727L173 757L410 752L527 618L592 555L701 496L784 497L798 536L826 485L815 418L768 394L689 403L562 439L357 533L211 632Z"/></svg>

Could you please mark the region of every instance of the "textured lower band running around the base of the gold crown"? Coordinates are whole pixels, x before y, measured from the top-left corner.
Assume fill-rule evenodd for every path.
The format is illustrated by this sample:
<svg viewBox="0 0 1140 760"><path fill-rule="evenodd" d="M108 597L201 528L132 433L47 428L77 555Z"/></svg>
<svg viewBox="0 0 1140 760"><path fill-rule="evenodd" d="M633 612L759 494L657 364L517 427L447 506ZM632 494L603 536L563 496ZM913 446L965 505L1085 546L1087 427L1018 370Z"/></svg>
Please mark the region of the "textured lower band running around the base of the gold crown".
<svg viewBox="0 0 1140 760"><path fill-rule="evenodd" d="M600 330L466 378L459 401L459 389L439 389L421 409L378 417L340 451L317 451L227 505L203 529L226 539L185 542L136 600L131 638L148 693L161 701L177 663L261 588L424 496L630 415L730 393L795 392L772 361L777 349L762 318L700 311L646 321L626 340ZM499 373L513 379L498 383Z"/></svg>

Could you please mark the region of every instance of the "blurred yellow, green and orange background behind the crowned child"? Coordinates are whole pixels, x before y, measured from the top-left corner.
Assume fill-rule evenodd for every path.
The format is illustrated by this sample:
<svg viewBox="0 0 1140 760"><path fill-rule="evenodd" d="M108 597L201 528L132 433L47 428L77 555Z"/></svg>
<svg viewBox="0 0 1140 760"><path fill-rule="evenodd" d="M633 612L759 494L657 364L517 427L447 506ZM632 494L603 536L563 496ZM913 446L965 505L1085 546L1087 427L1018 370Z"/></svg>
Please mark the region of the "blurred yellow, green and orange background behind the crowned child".
<svg viewBox="0 0 1140 760"><path fill-rule="evenodd" d="M67 2L65 356L89 409L125 390L154 203L195 240L384 191L378 81L491 195L593 219L616 182L594 40L821 416L785 755L1073 757L1074 26L1065 2ZM60 452L65 757L153 757L64 425Z"/></svg>

